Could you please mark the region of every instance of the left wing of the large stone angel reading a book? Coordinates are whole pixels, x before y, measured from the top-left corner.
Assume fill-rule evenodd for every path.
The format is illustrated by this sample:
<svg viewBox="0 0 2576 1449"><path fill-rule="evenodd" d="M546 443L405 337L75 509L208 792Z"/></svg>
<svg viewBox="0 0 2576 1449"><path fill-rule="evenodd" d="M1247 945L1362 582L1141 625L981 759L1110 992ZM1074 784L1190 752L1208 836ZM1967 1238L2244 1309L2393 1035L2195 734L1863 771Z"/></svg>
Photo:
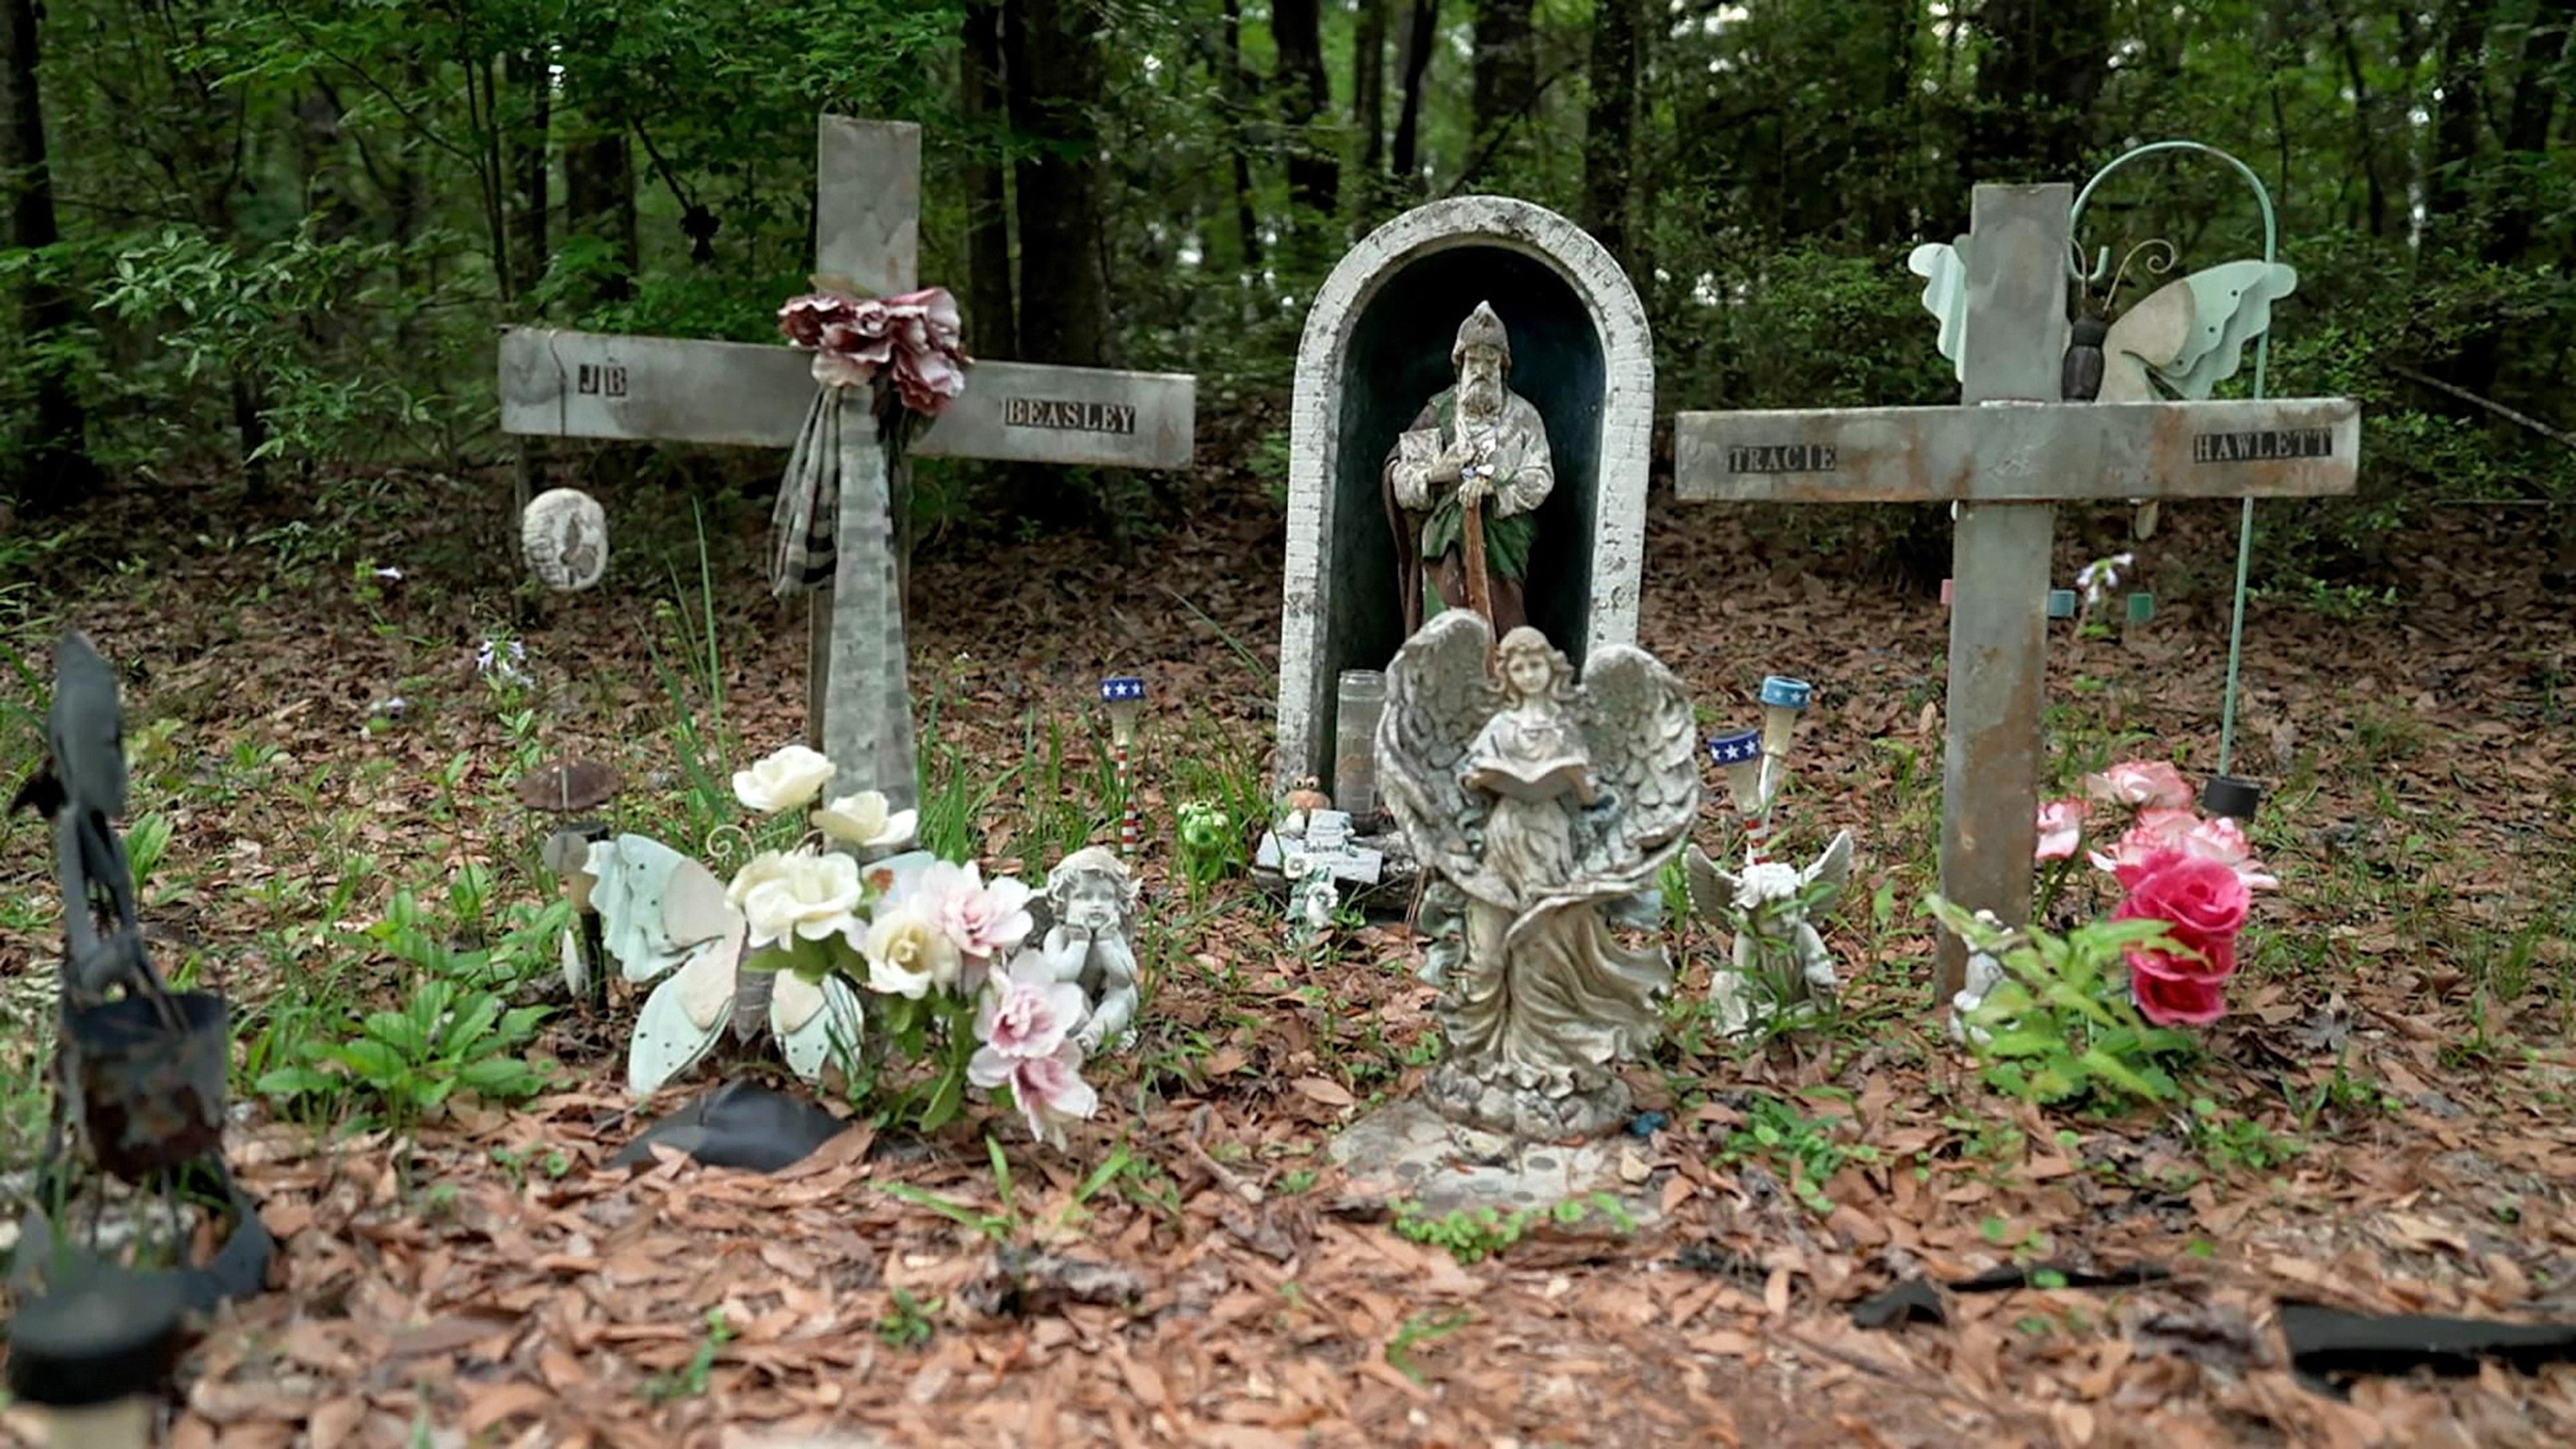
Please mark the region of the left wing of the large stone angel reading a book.
<svg viewBox="0 0 2576 1449"><path fill-rule="evenodd" d="M1425 866L1481 900L1510 900L1466 835L1458 784L1458 761L1499 706L1484 673L1492 645L1479 614L1450 608L1396 650L1378 717L1378 794Z"/></svg>

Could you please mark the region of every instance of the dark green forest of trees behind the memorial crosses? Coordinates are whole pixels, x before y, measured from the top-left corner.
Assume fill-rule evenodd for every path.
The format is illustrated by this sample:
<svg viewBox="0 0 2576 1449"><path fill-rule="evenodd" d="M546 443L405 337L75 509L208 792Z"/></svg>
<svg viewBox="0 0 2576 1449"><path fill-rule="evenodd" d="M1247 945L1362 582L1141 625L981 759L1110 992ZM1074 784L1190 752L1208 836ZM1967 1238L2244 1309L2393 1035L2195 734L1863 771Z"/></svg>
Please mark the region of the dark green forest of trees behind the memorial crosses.
<svg viewBox="0 0 2576 1449"><path fill-rule="evenodd" d="M2264 511L2259 583L2375 593L2445 508L2530 511L2524 567L2576 562L2576 0L0 8L0 508L28 523L183 467L270 511L492 467L505 322L775 338L840 111L922 121L922 278L974 353L1195 371L1203 441L1239 449L1195 492L933 467L935 529L1126 539L1206 487L1278 498L1314 286L1463 191L1618 255L1667 415L1942 402L1906 250L1978 180L2190 137L2264 178L2300 271L2269 392L2367 420L2357 498ZM2184 268L2262 248L2205 160L2087 214L2115 263L2146 237ZM1785 513L1940 575L1932 511ZM0 565L41 539L0 529Z"/></svg>

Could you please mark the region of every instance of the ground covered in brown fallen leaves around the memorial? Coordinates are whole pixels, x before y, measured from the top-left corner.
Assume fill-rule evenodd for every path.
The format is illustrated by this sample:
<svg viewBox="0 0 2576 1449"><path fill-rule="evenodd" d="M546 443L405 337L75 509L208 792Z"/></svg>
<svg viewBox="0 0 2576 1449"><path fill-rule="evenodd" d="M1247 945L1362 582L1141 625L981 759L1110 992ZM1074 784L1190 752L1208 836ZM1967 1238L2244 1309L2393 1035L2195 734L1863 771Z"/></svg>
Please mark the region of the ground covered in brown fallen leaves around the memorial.
<svg viewBox="0 0 2576 1449"><path fill-rule="evenodd" d="M345 933L397 887L438 897L482 864L505 900L549 890L538 822L507 797L533 755L608 758L636 781L623 820L670 820L675 704L652 650L667 663L680 637L657 603L698 601L688 492L598 487L613 583L544 606L510 588L507 487L433 474L343 480L252 523L219 487L137 490L28 588L0 580L13 650L77 621L129 668L137 810L173 820L152 931L234 998L245 1052L296 1000L345 1013L399 990L407 967ZM757 583L757 503L701 500L724 727L765 750L799 732L801 611ZM2463 523L2396 606L2254 611L2239 773L2272 784L2257 843L2285 884L2208 1034L2208 1109L2099 1122L1984 1091L1929 1008L1937 603L1726 511L1659 495L1649 523L1641 642L1713 722L1752 722L1765 673L1816 681L1783 848L1839 825L1862 841L1829 931L1842 1021L1734 1052L1680 1013L1633 1075L1669 1116L1631 1145L1651 1227L1551 1220L1461 1263L1401 1232L1419 1220L1352 1201L1327 1140L1427 1062L1406 941L1370 926L1301 959L1244 882L1190 902L1170 874L1177 799L1265 768L1275 508L1198 508L1126 559L933 536L912 588L935 773L994 779L1048 758L1048 722L1061 735L1061 768L1030 763L981 810L999 869L1043 869L1018 859L1046 835L1030 822L1092 810L1097 676L1154 681L1149 1029L1103 1067L1077 1150L974 1111L933 1140L848 1134L775 1178L605 1171L639 1127L621 1018L574 1013L541 1049L564 1088L520 1109L332 1137L258 1106L232 1152L283 1240L276 1292L191 1356L173 1441L2576 1441L2566 1369L2336 1403L2290 1377L2275 1333L2282 1297L2576 1318L2576 639L2530 549ZM2069 518L2063 570L2117 523ZM2053 637L2069 776L2130 753L2210 768L2231 526L2233 508L2169 511L2143 637ZM526 639L526 699L474 673L497 629ZM688 709L711 722L706 699ZM1731 828L1713 799L1703 843ZM0 882L23 1150L57 938L26 820L0 825ZM1687 995L1713 941L1685 944ZM1757 1116L1788 1122L1785 1142L1754 1145ZM1814 1176L1829 1212L1801 1191ZM2014 1261L2174 1279L1850 1323L1904 1274Z"/></svg>

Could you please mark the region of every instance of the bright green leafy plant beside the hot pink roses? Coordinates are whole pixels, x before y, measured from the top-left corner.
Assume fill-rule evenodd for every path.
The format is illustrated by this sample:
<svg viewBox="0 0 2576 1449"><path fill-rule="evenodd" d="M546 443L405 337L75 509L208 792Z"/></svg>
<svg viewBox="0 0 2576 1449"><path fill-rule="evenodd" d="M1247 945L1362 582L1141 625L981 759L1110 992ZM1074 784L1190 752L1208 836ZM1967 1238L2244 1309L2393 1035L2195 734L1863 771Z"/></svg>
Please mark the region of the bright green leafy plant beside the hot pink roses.
<svg viewBox="0 0 2576 1449"><path fill-rule="evenodd" d="M2151 1026L2128 998L2123 949L2164 936L2161 920L2092 920L2066 936L2004 933L1927 897L1932 915L1976 949L1994 951L2007 977L1968 1013L1986 1083L2043 1106L2120 1111L2174 1101L2172 1065L2195 1044ZM2009 944L2007 944L2009 941Z"/></svg>

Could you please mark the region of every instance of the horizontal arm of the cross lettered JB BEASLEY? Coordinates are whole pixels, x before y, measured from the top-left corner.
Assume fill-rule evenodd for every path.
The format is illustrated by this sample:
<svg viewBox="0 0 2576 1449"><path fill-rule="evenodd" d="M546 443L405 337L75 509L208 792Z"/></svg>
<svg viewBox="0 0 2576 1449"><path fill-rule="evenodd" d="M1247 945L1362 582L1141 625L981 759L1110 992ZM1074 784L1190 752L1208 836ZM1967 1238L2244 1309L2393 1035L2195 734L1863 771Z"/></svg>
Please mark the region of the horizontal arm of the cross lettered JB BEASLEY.
<svg viewBox="0 0 2576 1449"><path fill-rule="evenodd" d="M788 449L814 402L811 358L778 343L510 327L505 433ZM1190 467L1188 374L979 361L914 456L1072 467Z"/></svg>

